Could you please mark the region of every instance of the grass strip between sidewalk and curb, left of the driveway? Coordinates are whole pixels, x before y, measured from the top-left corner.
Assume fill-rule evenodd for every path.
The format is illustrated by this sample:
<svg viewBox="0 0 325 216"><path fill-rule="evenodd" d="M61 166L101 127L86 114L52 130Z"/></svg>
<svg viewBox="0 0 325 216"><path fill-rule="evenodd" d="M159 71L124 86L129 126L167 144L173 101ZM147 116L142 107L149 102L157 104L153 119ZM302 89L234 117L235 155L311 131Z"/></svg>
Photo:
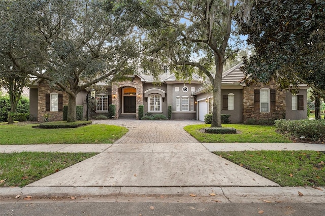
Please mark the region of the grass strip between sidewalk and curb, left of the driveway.
<svg viewBox="0 0 325 216"><path fill-rule="evenodd" d="M98 153L0 154L0 187L24 187Z"/></svg>

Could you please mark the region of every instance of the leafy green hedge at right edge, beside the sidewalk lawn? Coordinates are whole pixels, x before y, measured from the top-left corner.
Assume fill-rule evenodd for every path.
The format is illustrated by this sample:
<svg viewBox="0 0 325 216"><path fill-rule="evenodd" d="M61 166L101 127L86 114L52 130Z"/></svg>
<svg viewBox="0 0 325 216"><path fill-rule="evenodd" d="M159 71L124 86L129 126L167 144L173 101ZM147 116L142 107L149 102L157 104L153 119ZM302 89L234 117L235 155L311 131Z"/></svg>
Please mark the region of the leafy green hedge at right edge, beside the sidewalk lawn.
<svg viewBox="0 0 325 216"><path fill-rule="evenodd" d="M300 138L305 137L306 140L318 141L325 139L325 120L285 120L275 121L277 131L281 133L289 133L290 135Z"/></svg>

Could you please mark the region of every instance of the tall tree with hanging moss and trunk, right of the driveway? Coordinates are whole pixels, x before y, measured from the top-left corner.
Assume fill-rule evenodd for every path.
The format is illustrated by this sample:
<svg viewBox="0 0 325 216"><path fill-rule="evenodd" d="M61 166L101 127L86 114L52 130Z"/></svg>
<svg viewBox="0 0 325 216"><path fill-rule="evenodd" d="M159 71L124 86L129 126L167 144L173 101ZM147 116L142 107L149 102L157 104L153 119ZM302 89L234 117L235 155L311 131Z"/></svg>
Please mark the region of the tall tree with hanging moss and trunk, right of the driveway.
<svg viewBox="0 0 325 216"><path fill-rule="evenodd" d="M205 75L213 89L211 127L221 127L221 78L225 61L240 45L235 16L246 16L249 1L126 1L140 28L147 29L148 52L143 65L154 70L170 62L177 77Z"/></svg>

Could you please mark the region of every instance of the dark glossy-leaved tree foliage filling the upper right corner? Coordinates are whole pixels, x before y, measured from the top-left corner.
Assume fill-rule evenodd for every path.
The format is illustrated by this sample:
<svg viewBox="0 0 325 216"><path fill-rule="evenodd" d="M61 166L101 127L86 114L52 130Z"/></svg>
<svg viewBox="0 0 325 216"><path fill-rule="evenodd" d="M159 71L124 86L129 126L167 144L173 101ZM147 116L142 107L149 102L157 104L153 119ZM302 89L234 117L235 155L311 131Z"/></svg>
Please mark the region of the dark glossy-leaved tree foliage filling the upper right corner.
<svg viewBox="0 0 325 216"><path fill-rule="evenodd" d="M248 84L276 80L293 92L308 84L325 97L324 1L253 1L250 19L237 20L255 48L244 60Z"/></svg>

